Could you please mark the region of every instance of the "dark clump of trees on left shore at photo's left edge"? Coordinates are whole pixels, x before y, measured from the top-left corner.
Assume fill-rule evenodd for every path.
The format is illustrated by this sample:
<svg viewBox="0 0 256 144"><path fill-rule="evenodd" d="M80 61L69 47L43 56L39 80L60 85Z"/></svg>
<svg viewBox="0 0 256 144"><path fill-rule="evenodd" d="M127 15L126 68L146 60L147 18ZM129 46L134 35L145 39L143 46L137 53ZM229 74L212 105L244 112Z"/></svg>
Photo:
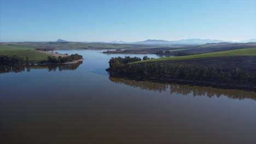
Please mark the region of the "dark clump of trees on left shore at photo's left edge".
<svg viewBox="0 0 256 144"><path fill-rule="evenodd" d="M0 55L0 63L2 64L17 64L17 63L26 63L30 62L30 58L26 57L19 57L17 55L14 56L5 56L5 55Z"/></svg>

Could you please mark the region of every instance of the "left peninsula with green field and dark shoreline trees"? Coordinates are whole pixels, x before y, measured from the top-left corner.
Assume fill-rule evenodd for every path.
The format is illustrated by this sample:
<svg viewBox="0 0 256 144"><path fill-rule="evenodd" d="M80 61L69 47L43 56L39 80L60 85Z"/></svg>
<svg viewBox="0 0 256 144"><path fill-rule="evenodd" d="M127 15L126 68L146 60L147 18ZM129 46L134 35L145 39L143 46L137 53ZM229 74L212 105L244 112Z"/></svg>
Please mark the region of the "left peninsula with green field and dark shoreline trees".
<svg viewBox="0 0 256 144"><path fill-rule="evenodd" d="M83 56L54 52L54 48L34 45L0 43L0 64L53 65L72 64L83 61ZM50 52L51 51L51 52Z"/></svg>

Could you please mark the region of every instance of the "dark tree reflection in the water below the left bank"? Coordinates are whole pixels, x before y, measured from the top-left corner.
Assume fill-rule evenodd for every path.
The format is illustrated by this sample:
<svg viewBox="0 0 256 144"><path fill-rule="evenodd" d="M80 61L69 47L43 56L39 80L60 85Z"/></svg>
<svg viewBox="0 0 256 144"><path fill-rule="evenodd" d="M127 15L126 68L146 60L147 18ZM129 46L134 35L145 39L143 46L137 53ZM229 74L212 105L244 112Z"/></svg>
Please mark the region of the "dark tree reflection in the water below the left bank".
<svg viewBox="0 0 256 144"><path fill-rule="evenodd" d="M79 61L74 64L62 64L62 65L0 65L0 74L4 73L21 73L30 72L31 69L48 69L48 71L62 71L62 70L75 70L82 64L83 61Z"/></svg>

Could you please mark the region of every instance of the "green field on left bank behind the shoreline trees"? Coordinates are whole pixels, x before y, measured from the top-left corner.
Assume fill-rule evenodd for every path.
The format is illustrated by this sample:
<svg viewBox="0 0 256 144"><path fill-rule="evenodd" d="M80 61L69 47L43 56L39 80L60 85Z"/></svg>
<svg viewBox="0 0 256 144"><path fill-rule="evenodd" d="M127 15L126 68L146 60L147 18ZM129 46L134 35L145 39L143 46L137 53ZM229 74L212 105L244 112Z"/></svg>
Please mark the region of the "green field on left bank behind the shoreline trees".
<svg viewBox="0 0 256 144"><path fill-rule="evenodd" d="M34 46L24 44L0 44L0 55L29 57L30 61L43 61L49 56L35 49Z"/></svg>

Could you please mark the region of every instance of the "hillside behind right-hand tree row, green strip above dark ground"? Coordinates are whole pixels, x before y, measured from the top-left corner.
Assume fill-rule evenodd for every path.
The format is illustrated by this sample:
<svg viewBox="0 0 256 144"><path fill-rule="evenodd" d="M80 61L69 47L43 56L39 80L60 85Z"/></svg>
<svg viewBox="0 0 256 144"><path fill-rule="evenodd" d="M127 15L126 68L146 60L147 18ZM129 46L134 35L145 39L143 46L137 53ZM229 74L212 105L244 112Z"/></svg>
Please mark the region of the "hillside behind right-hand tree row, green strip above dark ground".
<svg viewBox="0 0 256 144"><path fill-rule="evenodd" d="M240 68L256 71L256 48L205 53L201 55L165 57L135 63L215 67L223 70Z"/></svg>

